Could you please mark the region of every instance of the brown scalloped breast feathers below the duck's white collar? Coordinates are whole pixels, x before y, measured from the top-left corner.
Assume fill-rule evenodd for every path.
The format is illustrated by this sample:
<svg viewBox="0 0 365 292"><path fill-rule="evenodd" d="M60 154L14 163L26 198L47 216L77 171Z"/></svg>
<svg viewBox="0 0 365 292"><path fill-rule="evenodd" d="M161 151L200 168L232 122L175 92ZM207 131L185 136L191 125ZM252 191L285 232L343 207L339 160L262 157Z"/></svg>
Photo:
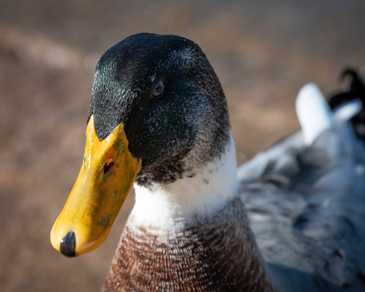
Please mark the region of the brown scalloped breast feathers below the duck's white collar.
<svg viewBox="0 0 365 292"><path fill-rule="evenodd" d="M129 218L103 291L275 291L241 200L194 222L151 230Z"/></svg>

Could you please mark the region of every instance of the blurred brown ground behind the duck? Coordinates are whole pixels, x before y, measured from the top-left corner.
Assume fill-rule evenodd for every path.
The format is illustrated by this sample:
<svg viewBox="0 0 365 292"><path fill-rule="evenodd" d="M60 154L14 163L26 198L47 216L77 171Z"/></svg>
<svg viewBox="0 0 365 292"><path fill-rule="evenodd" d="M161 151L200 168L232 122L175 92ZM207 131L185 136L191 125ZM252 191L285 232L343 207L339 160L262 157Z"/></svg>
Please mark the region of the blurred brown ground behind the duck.
<svg viewBox="0 0 365 292"><path fill-rule="evenodd" d="M49 233L76 180L100 55L138 32L198 43L228 100L238 164L299 129L294 101L365 74L365 1L0 0L0 290L99 291L134 203L69 259Z"/></svg>

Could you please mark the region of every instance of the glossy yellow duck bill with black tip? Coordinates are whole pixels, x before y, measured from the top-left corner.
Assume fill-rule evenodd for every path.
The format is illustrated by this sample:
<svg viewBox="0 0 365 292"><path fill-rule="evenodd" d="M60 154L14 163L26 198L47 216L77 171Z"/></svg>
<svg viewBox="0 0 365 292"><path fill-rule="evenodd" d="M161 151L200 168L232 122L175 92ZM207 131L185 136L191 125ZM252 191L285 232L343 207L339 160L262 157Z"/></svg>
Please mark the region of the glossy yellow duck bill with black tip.
<svg viewBox="0 0 365 292"><path fill-rule="evenodd" d="M142 160L132 157L124 124L99 141L92 115L85 156L65 207L51 230L51 243L67 257L99 247L127 199Z"/></svg>

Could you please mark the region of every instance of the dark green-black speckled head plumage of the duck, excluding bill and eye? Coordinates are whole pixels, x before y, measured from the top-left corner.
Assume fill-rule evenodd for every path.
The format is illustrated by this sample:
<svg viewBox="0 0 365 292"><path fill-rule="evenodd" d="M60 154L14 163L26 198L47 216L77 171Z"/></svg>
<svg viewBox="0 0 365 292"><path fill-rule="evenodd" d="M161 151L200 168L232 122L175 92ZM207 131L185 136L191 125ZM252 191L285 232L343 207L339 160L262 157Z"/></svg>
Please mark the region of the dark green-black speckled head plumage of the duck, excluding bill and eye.
<svg viewBox="0 0 365 292"><path fill-rule="evenodd" d="M164 93L153 98L158 81ZM95 70L89 118L100 140L124 122L142 158L139 185L194 176L229 141L227 104L200 47L174 35L136 34L107 50Z"/></svg>

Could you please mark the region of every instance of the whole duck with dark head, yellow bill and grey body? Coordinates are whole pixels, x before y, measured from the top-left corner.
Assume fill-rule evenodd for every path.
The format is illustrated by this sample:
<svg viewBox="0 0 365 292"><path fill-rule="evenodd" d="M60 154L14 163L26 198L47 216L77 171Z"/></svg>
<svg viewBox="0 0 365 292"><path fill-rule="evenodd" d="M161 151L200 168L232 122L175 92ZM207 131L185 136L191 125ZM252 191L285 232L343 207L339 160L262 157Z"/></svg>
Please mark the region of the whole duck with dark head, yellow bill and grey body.
<svg viewBox="0 0 365 292"><path fill-rule="evenodd" d="M131 35L96 65L85 155L51 230L66 257L99 247L132 186L102 291L365 291L365 147L346 99L315 84L301 130L237 168L222 86L200 47Z"/></svg>

